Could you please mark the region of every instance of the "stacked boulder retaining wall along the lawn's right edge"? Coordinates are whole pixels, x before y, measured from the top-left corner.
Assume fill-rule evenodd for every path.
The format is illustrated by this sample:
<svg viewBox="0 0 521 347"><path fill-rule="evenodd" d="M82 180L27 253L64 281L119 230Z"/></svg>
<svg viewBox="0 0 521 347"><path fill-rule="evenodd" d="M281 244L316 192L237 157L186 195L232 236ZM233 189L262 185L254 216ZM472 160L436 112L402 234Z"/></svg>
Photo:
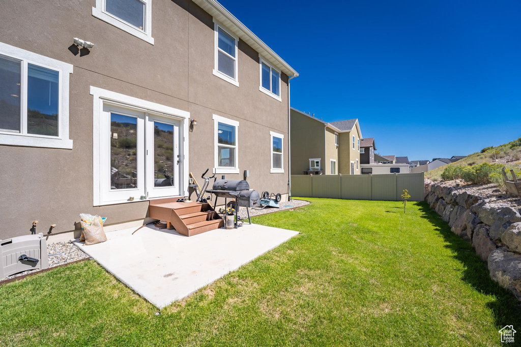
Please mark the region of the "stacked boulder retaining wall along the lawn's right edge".
<svg viewBox="0 0 521 347"><path fill-rule="evenodd" d="M427 183L425 200L454 234L476 249L490 277L521 300L521 215L494 198L457 192L443 183Z"/></svg>

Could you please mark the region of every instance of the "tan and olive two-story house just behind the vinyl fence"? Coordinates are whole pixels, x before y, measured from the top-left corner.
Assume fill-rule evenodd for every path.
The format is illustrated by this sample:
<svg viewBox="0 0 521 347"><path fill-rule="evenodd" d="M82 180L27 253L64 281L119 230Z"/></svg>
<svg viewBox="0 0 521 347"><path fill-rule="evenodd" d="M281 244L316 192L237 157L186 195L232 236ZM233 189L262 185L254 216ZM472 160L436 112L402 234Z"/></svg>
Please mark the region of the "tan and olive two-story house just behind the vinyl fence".
<svg viewBox="0 0 521 347"><path fill-rule="evenodd" d="M360 139L357 119L325 122L311 114L290 110L291 174L360 173Z"/></svg>

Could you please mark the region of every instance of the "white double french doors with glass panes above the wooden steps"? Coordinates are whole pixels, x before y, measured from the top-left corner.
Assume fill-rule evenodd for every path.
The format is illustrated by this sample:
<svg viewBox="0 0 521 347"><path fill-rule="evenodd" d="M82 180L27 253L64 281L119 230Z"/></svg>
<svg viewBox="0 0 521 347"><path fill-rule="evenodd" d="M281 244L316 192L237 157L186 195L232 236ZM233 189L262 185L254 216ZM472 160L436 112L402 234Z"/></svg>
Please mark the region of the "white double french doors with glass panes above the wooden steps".
<svg viewBox="0 0 521 347"><path fill-rule="evenodd" d="M108 103L102 117L103 201L179 195L180 121Z"/></svg>

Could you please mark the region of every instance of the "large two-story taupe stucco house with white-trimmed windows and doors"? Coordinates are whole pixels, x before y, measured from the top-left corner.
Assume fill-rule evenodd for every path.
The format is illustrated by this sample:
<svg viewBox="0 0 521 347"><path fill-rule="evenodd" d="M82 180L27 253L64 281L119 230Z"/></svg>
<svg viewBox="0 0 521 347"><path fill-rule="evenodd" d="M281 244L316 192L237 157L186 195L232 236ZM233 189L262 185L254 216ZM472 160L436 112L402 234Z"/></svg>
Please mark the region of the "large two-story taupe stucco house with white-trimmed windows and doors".
<svg viewBox="0 0 521 347"><path fill-rule="evenodd" d="M206 168L287 197L297 72L215 0L134 3L0 3L0 239L143 221Z"/></svg>

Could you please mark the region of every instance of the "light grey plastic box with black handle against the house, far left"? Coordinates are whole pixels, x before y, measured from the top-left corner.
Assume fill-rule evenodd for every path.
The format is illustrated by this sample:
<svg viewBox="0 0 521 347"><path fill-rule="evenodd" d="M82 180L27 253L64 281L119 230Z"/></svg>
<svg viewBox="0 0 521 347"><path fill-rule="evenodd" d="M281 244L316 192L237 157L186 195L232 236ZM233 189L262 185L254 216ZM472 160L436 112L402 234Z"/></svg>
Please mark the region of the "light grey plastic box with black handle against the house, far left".
<svg viewBox="0 0 521 347"><path fill-rule="evenodd" d="M49 267L42 233L0 240L0 280L22 271Z"/></svg>

